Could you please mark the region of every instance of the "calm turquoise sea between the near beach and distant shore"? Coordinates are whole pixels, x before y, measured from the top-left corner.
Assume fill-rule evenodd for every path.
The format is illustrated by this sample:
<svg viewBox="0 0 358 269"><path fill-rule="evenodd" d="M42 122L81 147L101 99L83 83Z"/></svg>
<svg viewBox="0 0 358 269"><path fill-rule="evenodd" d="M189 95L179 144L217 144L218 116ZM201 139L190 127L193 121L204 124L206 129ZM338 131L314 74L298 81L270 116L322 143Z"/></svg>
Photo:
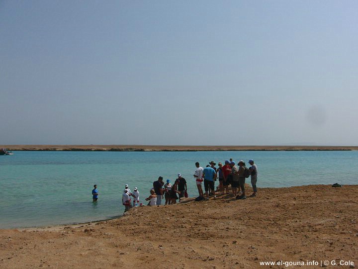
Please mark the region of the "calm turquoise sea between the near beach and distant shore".
<svg viewBox="0 0 358 269"><path fill-rule="evenodd" d="M357 184L358 151L14 151L0 156L0 228L39 227L121 216L125 184L149 196L158 176L181 173L197 196L195 162L205 167L233 158L258 165L258 188ZM217 166L217 165L216 165ZM250 183L250 179L247 180ZM97 203L91 190L98 185ZM259 189L260 192L260 189Z"/></svg>

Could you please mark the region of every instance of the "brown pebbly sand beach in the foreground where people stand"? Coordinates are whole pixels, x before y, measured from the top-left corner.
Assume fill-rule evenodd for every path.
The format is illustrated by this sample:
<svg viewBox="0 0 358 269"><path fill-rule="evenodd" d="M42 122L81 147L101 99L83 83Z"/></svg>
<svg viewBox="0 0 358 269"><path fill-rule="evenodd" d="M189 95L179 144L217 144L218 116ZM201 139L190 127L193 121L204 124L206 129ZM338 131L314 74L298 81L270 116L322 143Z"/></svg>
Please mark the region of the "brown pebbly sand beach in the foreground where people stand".
<svg viewBox="0 0 358 269"><path fill-rule="evenodd" d="M0 230L0 265L287 268L260 262L314 260L351 261L357 268L357 192L358 185L263 188L246 200L188 198L171 206L134 208L109 221Z"/></svg>

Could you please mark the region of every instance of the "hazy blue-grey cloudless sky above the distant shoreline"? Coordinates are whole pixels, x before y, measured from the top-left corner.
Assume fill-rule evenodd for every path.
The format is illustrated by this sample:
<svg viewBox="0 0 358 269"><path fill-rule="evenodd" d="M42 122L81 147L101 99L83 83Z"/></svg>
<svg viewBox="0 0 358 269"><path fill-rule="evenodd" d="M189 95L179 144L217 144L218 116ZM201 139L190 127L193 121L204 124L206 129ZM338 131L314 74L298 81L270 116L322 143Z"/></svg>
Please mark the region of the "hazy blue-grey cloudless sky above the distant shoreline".
<svg viewBox="0 0 358 269"><path fill-rule="evenodd" d="M358 1L0 0L0 144L358 144Z"/></svg>

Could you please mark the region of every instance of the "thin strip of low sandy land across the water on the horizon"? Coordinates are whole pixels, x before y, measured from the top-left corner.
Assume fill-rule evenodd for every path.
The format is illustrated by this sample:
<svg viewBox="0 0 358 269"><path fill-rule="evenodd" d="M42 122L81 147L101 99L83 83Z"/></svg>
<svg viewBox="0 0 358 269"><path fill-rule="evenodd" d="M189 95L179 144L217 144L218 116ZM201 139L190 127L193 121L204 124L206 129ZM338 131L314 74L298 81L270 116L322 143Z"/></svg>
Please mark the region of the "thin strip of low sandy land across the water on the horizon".
<svg viewBox="0 0 358 269"><path fill-rule="evenodd" d="M295 150L358 150L358 146L301 145L0 145L8 150L35 151L295 151Z"/></svg>

